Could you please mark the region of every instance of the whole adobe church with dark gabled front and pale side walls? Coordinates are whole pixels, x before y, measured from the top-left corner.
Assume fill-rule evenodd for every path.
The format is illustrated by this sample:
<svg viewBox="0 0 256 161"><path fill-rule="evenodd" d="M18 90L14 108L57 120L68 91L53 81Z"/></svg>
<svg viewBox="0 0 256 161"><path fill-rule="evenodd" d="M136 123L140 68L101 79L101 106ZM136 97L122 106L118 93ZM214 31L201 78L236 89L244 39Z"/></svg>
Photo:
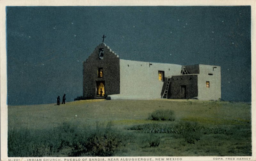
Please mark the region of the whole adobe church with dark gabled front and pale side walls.
<svg viewBox="0 0 256 161"><path fill-rule="evenodd" d="M83 99L221 98L220 66L120 59L105 43L83 62Z"/></svg>

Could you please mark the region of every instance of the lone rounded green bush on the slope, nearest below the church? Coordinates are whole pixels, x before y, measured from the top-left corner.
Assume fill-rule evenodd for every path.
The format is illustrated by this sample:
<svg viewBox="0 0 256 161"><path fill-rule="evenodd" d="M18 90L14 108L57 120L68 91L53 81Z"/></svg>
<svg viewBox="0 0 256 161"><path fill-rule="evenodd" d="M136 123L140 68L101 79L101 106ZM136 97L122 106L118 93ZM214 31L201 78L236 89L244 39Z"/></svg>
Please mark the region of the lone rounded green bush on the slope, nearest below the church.
<svg viewBox="0 0 256 161"><path fill-rule="evenodd" d="M172 110L156 110L148 117L149 120L174 121L175 116Z"/></svg>

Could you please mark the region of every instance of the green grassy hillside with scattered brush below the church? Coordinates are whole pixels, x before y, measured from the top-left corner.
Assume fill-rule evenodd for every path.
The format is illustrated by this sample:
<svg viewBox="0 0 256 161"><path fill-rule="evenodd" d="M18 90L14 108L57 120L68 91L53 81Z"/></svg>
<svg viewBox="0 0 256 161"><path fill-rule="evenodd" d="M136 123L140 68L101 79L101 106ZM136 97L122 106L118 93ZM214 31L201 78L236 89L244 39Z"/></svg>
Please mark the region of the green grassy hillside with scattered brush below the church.
<svg viewBox="0 0 256 161"><path fill-rule="evenodd" d="M172 121L149 120L156 110ZM251 156L251 141L246 103L95 99L8 106L9 157Z"/></svg>

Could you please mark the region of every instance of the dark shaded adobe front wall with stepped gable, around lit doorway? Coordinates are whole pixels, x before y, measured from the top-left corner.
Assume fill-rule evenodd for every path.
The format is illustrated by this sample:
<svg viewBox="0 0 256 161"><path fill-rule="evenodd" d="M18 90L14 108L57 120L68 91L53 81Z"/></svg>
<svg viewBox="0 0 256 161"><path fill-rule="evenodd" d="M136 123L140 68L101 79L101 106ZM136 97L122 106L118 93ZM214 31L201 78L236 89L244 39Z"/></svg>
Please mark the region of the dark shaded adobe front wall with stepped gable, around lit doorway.
<svg viewBox="0 0 256 161"><path fill-rule="evenodd" d="M103 49L103 59L99 58ZM103 68L103 77L98 77L98 68ZM92 54L83 62L83 98L96 97L96 81L105 81L105 96L120 93L119 57L106 44L98 45Z"/></svg>

